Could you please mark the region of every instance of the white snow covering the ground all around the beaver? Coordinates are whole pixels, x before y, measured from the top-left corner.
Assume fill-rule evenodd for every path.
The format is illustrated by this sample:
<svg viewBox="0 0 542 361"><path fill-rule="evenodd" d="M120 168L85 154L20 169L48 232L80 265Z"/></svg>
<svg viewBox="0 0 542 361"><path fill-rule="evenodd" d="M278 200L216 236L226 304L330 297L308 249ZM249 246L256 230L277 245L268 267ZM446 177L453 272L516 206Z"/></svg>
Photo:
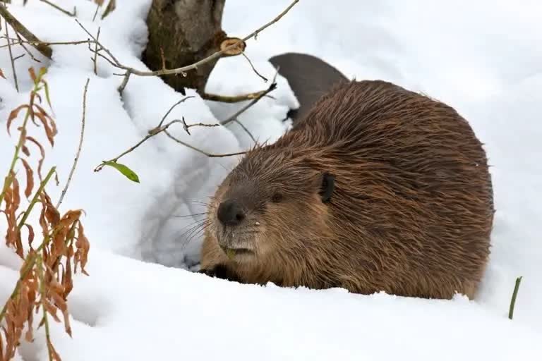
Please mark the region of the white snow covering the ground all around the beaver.
<svg viewBox="0 0 542 361"><path fill-rule="evenodd" d="M87 35L69 18L40 1L12 1L13 14L44 41L72 41ZM223 27L242 36L260 27L289 1L227 1ZM145 14L150 0L117 1L104 21L92 22L87 0L78 20L126 66L145 69ZM339 6L340 4L340 6ZM56 165L58 199L71 169L80 133L83 85L90 78L85 141L61 210L85 209L91 243L88 271L78 276L68 300L73 339L53 327L63 360L538 360L542 356L542 38L539 1L300 1L272 27L248 42L247 55L266 78L267 59L285 51L320 56L349 78L385 79L454 106L486 144L495 191L490 264L474 301L420 300L392 295L354 295L344 290L287 289L239 285L194 274L205 212L202 202L236 164L236 157L208 158L165 135L152 137L122 158L141 183L114 169L93 169L116 157L157 126L182 96L158 78L131 77L123 97L121 78L99 59L92 72L86 45L54 46L47 66L54 115L55 147L46 147L44 170ZM4 25L4 24L3 24ZM4 28L4 27L3 27ZM22 49L15 47L15 54ZM0 49L0 174L7 170L15 140L5 120L28 99L25 56L16 63L15 90L6 48ZM259 141L276 140L288 109L296 106L287 81L239 117ZM217 63L207 92L242 94L268 83L242 57ZM205 102L195 92L166 121L215 124L243 104ZM252 140L234 123L194 127L191 135L171 126L180 140L212 153L239 152ZM39 132L38 132L39 133ZM41 138L43 139L43 138ZM34 219L35 220L35 219ZM5 229L0 221L0 233ZM11 293L20 261L0 245L0 304ZM507 310L517 276L523 276L514 320ZM21 359L47 360L43 335L23 343ZM241 341L241 342L240 342ZM135 347L134 347L135 346ZM435 356L438 355L438 356Z"/></svg>

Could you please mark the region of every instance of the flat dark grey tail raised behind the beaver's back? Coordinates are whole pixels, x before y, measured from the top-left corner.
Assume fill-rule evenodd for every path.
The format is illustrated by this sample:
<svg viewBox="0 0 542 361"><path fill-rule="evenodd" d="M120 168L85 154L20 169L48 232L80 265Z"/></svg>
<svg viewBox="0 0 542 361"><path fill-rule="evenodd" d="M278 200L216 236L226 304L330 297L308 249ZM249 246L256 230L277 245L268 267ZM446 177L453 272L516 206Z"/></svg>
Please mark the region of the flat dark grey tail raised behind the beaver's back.
<svg viewBox="0 0 542 361"><path fill-rule="evenodd" d="M272 56L269 61L288 80L299 101L299 108L290 109L287 114L294 123L306 116L313 104L334 85L347 81L337 68L310 54L284 53Z"/></svg>

